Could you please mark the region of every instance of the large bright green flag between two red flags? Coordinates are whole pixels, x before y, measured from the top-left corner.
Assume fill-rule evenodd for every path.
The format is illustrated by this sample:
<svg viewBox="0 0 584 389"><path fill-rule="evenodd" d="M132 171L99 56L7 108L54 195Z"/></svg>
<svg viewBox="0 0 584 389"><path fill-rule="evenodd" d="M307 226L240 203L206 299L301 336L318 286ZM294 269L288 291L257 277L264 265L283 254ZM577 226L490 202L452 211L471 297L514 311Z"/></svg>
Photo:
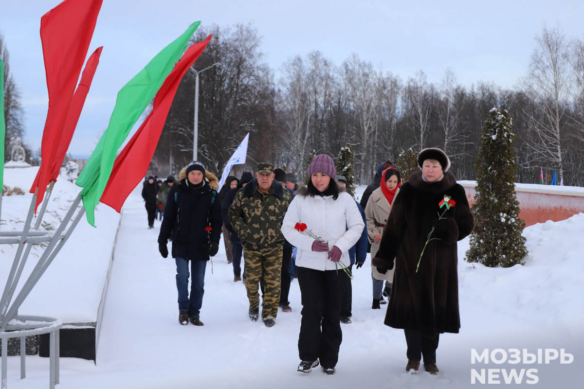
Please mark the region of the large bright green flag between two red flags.
<svg viewBox="0 0 584 389"><path fill-rule="evenodd" d="M95 207L112 173L117 151L185 51L190 37L199 24L200 22L191 24L117 93L116 105L106 131L76 181L76 184L83 188L80 195L87 213L87 221L92 226L95 226Z"/></svg>

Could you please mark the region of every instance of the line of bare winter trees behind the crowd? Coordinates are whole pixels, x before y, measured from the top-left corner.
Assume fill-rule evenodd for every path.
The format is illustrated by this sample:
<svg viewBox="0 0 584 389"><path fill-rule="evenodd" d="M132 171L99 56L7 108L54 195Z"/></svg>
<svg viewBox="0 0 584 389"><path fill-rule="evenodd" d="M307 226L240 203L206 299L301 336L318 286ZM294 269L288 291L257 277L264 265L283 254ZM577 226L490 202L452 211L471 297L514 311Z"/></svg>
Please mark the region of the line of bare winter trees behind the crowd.
<svg viewBox="0 0 584 389"><path fill-rule="evenodd" d="M507 110L516 134L517 182L584 185L584 42L559 27L544 27L534 40L529 69L516 87L457 82L451 69L438 83L418 70L407 79L352 54L335 64L320 51L290 58L274 76L264 61L261 38L251 25L197 31L213 40L194 64L220 62L200 74L199 159L221 172L251 132L248 166L271 161L303 174L310 153L336 156L349 142L359 184L379 163L402 150L444 149L458 179L476 177L481 129L492 107ZM187 73L173 102L153 169L172 170L192 157L194 73Z"/></svg>

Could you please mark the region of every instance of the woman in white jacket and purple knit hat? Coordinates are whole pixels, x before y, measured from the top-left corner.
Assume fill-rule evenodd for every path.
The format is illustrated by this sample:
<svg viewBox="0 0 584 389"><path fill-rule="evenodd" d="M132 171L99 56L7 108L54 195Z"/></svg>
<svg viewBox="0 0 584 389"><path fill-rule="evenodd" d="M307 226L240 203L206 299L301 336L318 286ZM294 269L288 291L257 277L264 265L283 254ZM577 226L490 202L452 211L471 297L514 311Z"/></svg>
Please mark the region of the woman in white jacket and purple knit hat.
<svg viewBox="0 0 584 389"><path fill-rule="evenodd" d="M334 374L342 341L341 292L347 276L339 262L349 267L349 248L359 240L365 225L353 198L339 192L331 157L314 157L308 177L307 187L296 192L281 227L286 240L298 247L296 266L303 306L298 371L310 373L320 360L324 373Z"/></svg>

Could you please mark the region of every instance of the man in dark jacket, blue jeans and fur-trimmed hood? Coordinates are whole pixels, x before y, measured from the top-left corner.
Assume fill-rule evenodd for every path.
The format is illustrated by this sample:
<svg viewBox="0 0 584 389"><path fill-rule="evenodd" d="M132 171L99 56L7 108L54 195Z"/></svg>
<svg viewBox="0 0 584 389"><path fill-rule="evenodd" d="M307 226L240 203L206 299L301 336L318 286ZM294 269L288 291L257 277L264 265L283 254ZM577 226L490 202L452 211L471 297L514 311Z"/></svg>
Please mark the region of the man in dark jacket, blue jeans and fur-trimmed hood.
<svg viewBox="0 0 584 389"><path fill-rule="evenodd" d="M205 268L209 257L219 250L221 205L217 177L206 172L199 161L190 162L179 174L179 185L168 192L164 219L158 235L158 250L168 257L166 244L172 234L172 257L176 262L179 323L203 325L199 320L203 305ZM191 271L190 296L189 261Z"/></svg>

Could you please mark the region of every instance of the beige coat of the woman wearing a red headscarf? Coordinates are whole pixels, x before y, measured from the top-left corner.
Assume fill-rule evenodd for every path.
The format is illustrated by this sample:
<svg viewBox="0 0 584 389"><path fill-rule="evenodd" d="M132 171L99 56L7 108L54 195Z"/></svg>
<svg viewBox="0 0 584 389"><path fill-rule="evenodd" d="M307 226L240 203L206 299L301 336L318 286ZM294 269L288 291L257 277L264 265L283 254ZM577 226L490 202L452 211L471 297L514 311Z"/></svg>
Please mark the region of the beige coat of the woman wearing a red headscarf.
<svg viewBox="0 0 584 389"><path fill-rule="evenodd" d="M395 191L394 200L397 197L399 188ZM365 207L365 216L367 218L367 236L369 237L369 243L371 243L371 258L377 254L379 250L379 242L373 240L373 237L379 234L383 236L383 227L377 226L379 224L385 225L387 219L390 216L391 206L390 203L385 198L381 187L377 188L371 193L371 197L367 201L367 206ZM381 279L391 282L394 278L393 269L387 271L385 274L381 274L377 271L376 267L371 265L371 271L373 272L373 277L375 279Z"/></svg>

